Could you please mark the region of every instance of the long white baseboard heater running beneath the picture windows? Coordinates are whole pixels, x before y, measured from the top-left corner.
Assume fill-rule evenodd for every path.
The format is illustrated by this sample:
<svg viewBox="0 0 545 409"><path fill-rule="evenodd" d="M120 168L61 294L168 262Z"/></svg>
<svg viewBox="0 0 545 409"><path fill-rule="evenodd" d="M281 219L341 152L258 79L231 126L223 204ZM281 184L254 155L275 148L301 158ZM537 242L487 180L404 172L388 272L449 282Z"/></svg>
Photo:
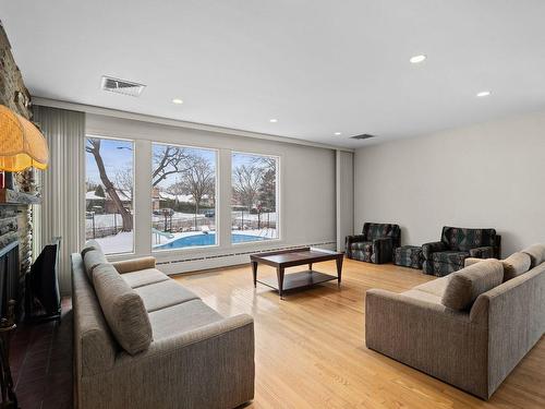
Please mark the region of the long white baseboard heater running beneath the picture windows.
<svg viewBox="0 0 545 409"><path fill-rule="evenodd" d="M168 261L157 261L157 266L166 274L180 274L186 273L189 270L198 270L198 269L207 269L207 268L217 268L229 265L243 264L245 258L247 257L247 263L250 263L250 255L257 253L267 253L270 251L280 251L280 250L292 250L304 246L312 248L323 248L323 246L334 246L337 243L335 241L326 241L319 243L312 244L298 244L298 245L284 245L277 248L269 248L263 250L245 250L245 251L237 251L229 252L222 254L210 254L210 255L198 255L194 257L183 257L177 260L168 260ZM242 258L243 257L243 258Z"/></svg>

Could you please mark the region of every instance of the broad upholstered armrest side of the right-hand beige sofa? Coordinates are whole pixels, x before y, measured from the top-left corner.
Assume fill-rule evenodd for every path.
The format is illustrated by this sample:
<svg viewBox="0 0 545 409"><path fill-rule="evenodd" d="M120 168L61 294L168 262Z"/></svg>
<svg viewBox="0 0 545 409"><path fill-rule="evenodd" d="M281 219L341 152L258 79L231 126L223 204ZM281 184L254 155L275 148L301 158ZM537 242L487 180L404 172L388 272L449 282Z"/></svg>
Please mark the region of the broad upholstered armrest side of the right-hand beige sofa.
<svg viewBox="0 0 545 409"><path fill-rule="evenodd" d="M487 327L439 303L372 289L365 296L365 342L417 370L487 397Z"/></svg>

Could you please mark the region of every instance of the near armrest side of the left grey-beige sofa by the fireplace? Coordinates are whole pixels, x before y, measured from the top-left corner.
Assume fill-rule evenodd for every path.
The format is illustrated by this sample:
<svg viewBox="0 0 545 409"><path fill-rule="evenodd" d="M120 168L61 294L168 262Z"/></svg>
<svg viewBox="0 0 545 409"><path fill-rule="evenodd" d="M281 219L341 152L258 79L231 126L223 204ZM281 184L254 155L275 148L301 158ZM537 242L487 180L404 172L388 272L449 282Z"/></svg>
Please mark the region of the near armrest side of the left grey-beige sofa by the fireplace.
<svg viewBox="0 0 545 409"><path fill-rule="evenodd" d="M82 380L82 407L123 408L130 397L137 408L233 408L253 399L254 376L254 322L241 314L120 352L112 370Z"/></svg>

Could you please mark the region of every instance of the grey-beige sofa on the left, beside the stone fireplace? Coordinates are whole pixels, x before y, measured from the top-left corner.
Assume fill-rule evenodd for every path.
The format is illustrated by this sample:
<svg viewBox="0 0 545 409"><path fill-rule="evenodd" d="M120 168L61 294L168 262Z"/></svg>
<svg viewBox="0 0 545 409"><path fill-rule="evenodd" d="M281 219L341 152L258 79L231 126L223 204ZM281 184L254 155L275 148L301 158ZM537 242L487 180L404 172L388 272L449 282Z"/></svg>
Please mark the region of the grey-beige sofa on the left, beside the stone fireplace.
<svg viewBox="0 0 545 409"><path fill-rule="evenodd" d="M254 397L254 324L155 268L72 254L77 408L234 408Z"/></svg>

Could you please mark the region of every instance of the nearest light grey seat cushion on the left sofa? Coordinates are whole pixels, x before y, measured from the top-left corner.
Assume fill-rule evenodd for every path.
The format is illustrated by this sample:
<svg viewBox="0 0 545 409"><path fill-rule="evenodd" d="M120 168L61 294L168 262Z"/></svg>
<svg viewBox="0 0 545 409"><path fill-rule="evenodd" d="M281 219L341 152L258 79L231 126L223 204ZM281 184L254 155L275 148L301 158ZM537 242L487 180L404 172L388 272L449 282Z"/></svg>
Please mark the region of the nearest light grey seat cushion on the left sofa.
<svg viewBox="0 0 545 409"><path fill-rule="evenodd" d="M154 339L172 338L223 317L201 300L192 300L149 313Z"/></svg>

